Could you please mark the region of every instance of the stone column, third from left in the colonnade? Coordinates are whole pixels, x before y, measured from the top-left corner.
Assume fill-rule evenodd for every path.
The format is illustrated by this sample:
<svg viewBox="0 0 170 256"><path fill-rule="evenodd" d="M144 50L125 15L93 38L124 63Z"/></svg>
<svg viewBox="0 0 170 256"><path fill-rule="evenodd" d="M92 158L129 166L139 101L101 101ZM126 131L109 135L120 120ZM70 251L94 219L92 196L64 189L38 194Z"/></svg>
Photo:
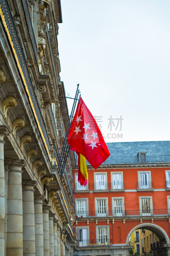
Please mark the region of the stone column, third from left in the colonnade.
<svg viewBox="0 0 170 256"><path fill-rule="evenodd" d="M35 181L24 180L23 202L23 256L35 256L34 187ZM27 184L26 184L27 183Z"/></svg>

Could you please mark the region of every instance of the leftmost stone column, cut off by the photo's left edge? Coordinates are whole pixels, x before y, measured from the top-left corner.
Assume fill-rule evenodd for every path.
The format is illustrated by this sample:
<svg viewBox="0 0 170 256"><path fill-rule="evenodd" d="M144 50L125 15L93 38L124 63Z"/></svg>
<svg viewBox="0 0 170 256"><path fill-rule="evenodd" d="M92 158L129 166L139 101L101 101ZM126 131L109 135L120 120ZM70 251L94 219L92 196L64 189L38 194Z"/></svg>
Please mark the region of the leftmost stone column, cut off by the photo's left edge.
<svg viewBox="0 0 170 256"><path fill-rule="evenodd" d="M4 174L4 137L7 127L0 126L0 256L5 255L5 174Z"/></svg>

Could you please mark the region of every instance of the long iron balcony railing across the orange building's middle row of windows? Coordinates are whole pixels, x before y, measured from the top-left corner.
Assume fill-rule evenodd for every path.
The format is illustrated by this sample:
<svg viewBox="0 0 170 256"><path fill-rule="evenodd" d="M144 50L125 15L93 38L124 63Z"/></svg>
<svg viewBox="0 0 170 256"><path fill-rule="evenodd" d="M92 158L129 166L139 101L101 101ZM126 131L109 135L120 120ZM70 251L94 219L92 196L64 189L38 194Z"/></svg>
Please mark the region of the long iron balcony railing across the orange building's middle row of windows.
<svg viewBox="0 0 170 256"><path fill-rule="evenodd" d="M142 217L142 216L170 216L170 209L154 210L110 210L101 207L98 211L78 211L78 218L99 218L99 217Z"/></svg>

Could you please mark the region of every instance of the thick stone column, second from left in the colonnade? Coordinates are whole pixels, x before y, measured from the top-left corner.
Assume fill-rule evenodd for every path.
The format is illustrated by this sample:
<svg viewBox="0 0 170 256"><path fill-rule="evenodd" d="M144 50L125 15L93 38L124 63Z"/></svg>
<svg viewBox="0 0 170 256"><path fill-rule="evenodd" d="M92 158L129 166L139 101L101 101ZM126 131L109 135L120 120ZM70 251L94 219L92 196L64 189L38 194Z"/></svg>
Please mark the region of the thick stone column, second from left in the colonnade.
<svg viewBox="0 0 170 256"><path fill-rule="evenodd" d="M23 160L12 160L8 172L6 255L23 256L22 167Z"/></svg>

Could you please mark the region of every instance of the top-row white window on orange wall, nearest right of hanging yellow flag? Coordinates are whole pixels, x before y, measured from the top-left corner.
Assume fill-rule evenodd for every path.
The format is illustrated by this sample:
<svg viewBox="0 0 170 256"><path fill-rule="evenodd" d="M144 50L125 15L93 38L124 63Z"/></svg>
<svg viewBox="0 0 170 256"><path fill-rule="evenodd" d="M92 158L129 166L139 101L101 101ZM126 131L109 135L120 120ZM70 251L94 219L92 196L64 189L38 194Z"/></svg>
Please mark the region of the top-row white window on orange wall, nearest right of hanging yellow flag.
<svg viewBox="0 0 170 256"><path fill-rule="evenodd" d="M107 172L94 173L94 190L106 190L107 188Z"/></svg>

